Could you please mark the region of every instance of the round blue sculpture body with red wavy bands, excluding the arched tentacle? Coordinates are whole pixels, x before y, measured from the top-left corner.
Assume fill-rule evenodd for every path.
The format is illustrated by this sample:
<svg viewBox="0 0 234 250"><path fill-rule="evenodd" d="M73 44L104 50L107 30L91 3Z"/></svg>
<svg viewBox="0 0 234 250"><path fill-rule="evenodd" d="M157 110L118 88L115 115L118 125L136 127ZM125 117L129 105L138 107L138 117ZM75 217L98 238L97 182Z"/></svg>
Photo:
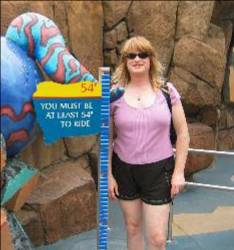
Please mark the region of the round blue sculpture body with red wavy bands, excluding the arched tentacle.
<svg viewBox="0 0 234 250"><path fill-rule="evenodd" d="M1 133L8 156L18 154L34 136L36 118L32 94L42 79L27 53L1 37Z"/></svg>

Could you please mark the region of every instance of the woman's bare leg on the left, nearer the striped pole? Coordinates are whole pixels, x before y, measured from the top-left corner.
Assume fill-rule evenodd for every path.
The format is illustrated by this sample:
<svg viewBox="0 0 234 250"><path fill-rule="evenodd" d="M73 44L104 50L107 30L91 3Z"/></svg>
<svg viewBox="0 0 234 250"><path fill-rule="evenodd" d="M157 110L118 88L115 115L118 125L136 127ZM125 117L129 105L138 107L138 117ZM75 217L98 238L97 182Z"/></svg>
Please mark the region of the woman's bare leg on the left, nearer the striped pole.
<svg viewBox="0 0 234 250"><path fill-rule="evenodd" d="M127 230L128 250L144 250L142 201L140 199L120 200Z"/></svg>

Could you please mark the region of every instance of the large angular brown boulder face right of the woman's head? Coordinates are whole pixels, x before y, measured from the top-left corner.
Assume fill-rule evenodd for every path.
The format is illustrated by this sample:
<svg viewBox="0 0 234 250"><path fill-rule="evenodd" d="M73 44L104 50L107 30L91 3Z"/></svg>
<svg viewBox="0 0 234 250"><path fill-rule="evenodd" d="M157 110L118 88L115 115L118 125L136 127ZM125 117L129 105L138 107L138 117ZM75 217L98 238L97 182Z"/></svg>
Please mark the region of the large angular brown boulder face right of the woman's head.
<svg viewBox="0 0 234 250"><path fill-rule="evenodd" d="M201 41L181 38L175 47L174 63L213 87L223 85L226 57Z"/></svg>

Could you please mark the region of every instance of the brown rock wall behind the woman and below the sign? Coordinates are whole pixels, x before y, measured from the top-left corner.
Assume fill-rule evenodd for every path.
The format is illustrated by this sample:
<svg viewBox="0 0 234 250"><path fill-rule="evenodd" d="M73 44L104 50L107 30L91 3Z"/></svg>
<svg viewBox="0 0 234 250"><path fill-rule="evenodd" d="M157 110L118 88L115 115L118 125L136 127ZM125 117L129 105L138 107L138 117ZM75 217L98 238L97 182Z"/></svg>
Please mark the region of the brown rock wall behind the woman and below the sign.
<svg viewBox="0 0 234 250"><path fill-rule="evenodd" d="M115 69L126 39L145 36L181 93L190 146L228 150L234 148L234 87L225 74L234 44L234 4L224 2L2 1L1 34L17 15L41 13L58 25L69 49L96 78L99 66ZM18 214L36 245L95 227L98 145L98 136L45 145L40 134L20 155L41 172ZM212 160L189 156L186 175Z"/></svg>

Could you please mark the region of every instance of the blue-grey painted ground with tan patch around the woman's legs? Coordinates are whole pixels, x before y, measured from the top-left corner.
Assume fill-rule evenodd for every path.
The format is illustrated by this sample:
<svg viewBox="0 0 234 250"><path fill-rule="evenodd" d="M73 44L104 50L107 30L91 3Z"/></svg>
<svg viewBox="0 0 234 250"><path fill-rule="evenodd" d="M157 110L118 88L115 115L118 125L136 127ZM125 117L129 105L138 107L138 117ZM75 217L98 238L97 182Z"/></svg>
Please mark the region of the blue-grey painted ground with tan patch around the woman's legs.
<svg viewBox="0 0 234 250"><path fill-rule="evenodd" d="M194 182L234 186L234 158L217 157L194 175ZM167 250L234 250L234 192L187 187L174 202L173 241ZM109 250L127 250L123 218L110 203ZM96 250L97 231L58 241L37 250Z"/></svg>

